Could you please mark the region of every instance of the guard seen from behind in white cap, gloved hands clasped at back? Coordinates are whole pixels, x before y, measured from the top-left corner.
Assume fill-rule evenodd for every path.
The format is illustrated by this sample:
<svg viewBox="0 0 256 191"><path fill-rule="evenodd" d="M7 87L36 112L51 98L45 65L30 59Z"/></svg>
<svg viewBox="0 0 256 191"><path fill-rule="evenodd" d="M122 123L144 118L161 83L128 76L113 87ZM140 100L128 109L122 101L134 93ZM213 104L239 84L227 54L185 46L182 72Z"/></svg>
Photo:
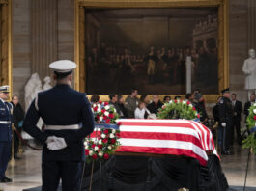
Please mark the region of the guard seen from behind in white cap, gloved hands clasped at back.
<svg viewBox="0 0 256 191"><path fill-rule="evenodd" d="M49 67L57 85L33 100L23 129L43 143L42 190L56 191L61 178L63 191L77 191L85 159L83 139L94 130L93 113L86 95L70 87L75 63L61 60ZM36 127L40 117L44 132Z"/></svg>

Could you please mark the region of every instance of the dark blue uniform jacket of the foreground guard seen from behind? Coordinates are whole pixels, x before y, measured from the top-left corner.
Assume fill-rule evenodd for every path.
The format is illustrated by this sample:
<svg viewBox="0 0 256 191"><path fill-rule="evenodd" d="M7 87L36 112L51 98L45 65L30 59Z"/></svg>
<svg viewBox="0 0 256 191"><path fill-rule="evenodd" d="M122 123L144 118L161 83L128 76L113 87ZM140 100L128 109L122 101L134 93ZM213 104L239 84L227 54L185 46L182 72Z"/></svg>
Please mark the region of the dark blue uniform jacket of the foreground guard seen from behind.
<svg viewBox="0 0 256 191"><path fill-rule="evenodd" d="M56 85L38 94L38 110L35 100L27 111L23 129L43 143L44 161L81 161L85 159L83 139L94 131L94 117L85 94L76 92L69 85ZM81 124L77 130L45 130L36 124L39 118L45 125ZM48 150L45 141L55 135L65 139L68 147L62 150Z"/></svg>

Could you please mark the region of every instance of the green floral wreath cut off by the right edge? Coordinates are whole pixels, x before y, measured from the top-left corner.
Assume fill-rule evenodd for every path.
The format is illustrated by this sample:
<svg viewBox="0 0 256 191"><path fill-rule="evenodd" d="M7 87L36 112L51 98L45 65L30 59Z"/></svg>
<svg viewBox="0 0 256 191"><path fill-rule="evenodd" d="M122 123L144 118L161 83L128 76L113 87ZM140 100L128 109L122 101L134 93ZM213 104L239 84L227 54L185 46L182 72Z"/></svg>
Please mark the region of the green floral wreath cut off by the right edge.
<svg viewBox="0 0 256 191"><path fill-rule="evenodd" d="M249 108L249 115L246 119L248 128L251 132L249 136L242 141L242 148L250 149L252 153L256 153L256 103Z"/></svg>

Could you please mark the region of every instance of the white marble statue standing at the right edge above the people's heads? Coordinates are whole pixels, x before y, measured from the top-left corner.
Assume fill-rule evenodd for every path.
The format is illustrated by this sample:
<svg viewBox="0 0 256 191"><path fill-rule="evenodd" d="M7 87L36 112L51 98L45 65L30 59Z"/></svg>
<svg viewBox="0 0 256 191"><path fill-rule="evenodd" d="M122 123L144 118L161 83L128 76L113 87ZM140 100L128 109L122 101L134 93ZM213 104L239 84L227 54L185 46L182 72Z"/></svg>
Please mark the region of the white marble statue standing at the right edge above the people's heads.
<svg viewBox="0 0 256 191"><path fill-rule="evenodd" d="M246 75L245 90L248 91L248 96L251 93L256 93L256 58L255 50L249 50L249 58L243 62L242 71Z"/></svg>

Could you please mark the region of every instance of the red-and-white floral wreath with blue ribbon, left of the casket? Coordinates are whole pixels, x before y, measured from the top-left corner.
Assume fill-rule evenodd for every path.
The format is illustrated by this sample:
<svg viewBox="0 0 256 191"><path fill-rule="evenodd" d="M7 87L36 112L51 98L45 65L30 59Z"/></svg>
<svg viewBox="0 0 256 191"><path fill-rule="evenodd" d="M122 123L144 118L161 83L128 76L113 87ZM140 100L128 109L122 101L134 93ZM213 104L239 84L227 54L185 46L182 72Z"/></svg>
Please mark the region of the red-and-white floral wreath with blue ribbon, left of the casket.
<svg viewBox="0 0 256 191"><path fill-rule="evenodd" d="M120 146L119 137L120 131L112 129L119 115L114 106L109 105L108 102L99 102L92 105L94 113L96 129L96 136L91 138L88 136L85 139L85 155L88 162L92 160L103 159L107 160L111 154ZM103 128L102 128L103 127ZM109 128L105 128L109 127ZM100 130L98 130L100 128Z"/></svg>

